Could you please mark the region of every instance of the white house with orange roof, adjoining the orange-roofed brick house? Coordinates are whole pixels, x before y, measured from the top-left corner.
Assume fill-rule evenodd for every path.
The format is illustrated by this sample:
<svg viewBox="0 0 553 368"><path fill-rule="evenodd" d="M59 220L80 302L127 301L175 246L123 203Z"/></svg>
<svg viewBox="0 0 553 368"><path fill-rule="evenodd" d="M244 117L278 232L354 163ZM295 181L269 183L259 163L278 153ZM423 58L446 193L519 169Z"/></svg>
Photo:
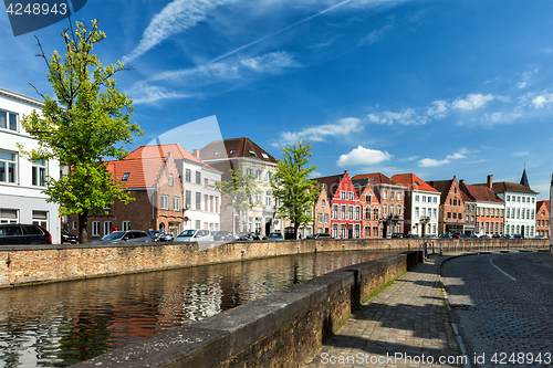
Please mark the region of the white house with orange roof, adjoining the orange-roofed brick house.
<svg viewBox="0 0 553 368"><path fill-rule="evenodd" d="M213 188L221 181L222 172L201 161L178 144L140 146L126 159L164 158L171 154L177 165L184 191L182 211L185 223L179 231L186 229L221 229L221 193ZM175 223L174 227L177 227ZM180 224L178 224L180 228Z"/></svg>

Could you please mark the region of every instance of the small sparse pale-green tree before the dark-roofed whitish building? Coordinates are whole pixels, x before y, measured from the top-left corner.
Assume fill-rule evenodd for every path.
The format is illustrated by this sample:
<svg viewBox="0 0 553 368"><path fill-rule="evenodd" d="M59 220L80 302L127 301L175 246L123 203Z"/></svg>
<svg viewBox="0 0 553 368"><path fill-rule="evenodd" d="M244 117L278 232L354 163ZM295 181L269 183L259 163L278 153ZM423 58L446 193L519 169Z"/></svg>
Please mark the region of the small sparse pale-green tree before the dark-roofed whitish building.
<svg viewBox="0 0 553 368"><path fill-rule="evenodd" d="M253 174L246 175L241 170L230 170L231 179L217 181L215 188L221 192L222 206L232 210L232 234L236 234L236 215L240 212L251 210L254 206L261 206L254 198L261 192Z"/></svg>

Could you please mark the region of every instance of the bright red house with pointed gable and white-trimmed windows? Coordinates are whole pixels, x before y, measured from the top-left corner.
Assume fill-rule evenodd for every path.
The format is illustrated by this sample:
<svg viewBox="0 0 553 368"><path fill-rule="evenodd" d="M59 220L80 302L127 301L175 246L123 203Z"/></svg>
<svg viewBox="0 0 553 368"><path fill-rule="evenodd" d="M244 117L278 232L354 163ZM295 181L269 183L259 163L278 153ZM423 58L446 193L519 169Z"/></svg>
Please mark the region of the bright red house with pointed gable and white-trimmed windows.
<svg viewBox="0 0 553 368"><path fill-rule="evenodd" d="M362 207L347 170L342 175L314 179L322 188L320 201L331 204L333 238L362 238ZM319 202L317 202L319 204Z"/></svg>

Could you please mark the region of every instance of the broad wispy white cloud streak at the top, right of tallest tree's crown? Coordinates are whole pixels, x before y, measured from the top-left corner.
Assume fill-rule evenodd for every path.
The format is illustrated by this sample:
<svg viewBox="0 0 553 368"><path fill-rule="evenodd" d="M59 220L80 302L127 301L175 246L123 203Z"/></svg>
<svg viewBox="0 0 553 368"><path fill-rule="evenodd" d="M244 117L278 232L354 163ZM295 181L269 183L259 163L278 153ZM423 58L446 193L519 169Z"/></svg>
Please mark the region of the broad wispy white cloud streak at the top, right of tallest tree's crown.
<svg viewBox="0 0 553 368"><path fill-rule="evenodd" d="M208 11L225 2L223 0L175 0L169 2L152 18L148 27L144 30L138 46L128 55L123 56L122 61L126 63L138 57L173 34L190 29L206 20Z"/></svg>

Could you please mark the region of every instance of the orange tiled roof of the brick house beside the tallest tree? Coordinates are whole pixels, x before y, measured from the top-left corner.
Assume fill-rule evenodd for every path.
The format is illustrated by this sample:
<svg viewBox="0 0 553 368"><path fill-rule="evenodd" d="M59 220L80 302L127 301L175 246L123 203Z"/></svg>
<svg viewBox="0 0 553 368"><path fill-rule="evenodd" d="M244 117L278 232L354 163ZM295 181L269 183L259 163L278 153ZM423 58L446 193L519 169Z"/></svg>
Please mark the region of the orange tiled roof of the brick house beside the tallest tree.
<svg viewBox="0 0 553 368"><path fill-rule="evenodd" d="M106 162L107 171L113 172L114 176L121 180L123 180L125 174L128 172L123 183L127 189L137 189L152 188L155 185L159 171L165 165L165 158L136 158Z"/></svg>

